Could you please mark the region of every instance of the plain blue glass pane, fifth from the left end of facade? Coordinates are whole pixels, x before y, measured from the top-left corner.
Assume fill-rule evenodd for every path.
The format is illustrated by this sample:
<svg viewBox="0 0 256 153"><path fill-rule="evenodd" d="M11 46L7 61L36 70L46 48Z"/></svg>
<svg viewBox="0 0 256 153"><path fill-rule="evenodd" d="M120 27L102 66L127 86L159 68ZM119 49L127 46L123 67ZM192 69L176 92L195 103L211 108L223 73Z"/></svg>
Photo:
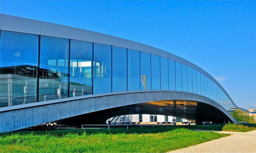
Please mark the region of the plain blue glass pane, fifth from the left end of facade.
<svg viewBox="0 0 256 153"><path fill-rule="evenodd" d="M127 49L113 46L112 92L127 91Z"/></svg>

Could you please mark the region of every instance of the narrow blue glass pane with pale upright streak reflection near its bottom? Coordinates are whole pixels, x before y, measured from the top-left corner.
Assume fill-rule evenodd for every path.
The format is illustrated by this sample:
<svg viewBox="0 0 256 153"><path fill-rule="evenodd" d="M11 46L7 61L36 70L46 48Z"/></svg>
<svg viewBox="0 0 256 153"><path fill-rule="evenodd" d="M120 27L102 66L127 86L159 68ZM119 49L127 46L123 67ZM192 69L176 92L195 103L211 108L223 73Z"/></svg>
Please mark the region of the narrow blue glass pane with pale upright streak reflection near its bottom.
<svg viewBox="0 0 256 153"><path fill-rule="evenodd" d="M151 58L150 54L140 52L140 89L151 89Z"/></svg>

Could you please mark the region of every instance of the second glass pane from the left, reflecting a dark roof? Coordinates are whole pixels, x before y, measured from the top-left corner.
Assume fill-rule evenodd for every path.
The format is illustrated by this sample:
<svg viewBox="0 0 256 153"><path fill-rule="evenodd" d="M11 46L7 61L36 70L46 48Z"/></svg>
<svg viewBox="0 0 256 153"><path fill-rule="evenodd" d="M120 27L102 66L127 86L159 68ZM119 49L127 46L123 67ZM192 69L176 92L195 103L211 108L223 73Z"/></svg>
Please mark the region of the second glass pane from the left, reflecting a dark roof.
<svg viewBox="0 0 256 153"><path fill-rule="evenodd" d="M39 101L68 97L69 40L41 36Z"/></svg>

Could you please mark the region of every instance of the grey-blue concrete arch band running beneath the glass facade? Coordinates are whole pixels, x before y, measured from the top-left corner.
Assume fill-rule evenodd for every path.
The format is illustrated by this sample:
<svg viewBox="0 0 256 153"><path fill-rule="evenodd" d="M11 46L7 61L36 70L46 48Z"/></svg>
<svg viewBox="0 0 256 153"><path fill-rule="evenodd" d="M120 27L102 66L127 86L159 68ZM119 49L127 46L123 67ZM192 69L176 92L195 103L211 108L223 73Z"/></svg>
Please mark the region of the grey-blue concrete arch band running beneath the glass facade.
<svg viewBox="0 0 256 153"><path fill-rule="evenodd" d="M29 104L24 104L24 108L19 108L16 110L14 110L14 108L11 108L9 111L2 110L0 111L0 132L15 131L50 121L57 121L70 117L79 117L79 115L82 117L81 115L84 114L93 116L100 114L101 112L101 116L104 116L109 111L115 112L132 106L136 107L136 105L143 105L143 103L148 103L150 101L157 102L168 100L197 102L200 104L196 105L196 109L198 109L197 112L200 112L200 110L203 111L203 109L209 109L208 111L219 112L220 115L224 115L225 119L237 123L230 113L226 111L226 109L202 95L182 91L145 90L72 97L38 102L34 103L34 105L31 103L30 106ZM156 109L157 108L160 107L156 107ZM141 111L141 113L144 113L144 111ZM168 115L162 113L160 110L159 114ZM105 117L107 117L107 115ZM199 121L201 120L202 119ZM222 118L220 118L219 122L222 122Z"/></svg>

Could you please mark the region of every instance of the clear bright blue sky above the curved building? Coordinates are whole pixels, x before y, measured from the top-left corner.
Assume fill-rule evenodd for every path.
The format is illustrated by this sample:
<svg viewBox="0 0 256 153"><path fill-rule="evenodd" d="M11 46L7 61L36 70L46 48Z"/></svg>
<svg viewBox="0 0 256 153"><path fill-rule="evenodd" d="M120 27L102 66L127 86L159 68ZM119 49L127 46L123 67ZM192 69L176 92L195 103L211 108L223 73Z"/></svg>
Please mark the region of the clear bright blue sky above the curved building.
<svg viewBox="0 0 256 153"><path fill-rule="evenodd" d="M256 108L255 1L0 1L0 12L110 34L176 54Z"/></svg>

